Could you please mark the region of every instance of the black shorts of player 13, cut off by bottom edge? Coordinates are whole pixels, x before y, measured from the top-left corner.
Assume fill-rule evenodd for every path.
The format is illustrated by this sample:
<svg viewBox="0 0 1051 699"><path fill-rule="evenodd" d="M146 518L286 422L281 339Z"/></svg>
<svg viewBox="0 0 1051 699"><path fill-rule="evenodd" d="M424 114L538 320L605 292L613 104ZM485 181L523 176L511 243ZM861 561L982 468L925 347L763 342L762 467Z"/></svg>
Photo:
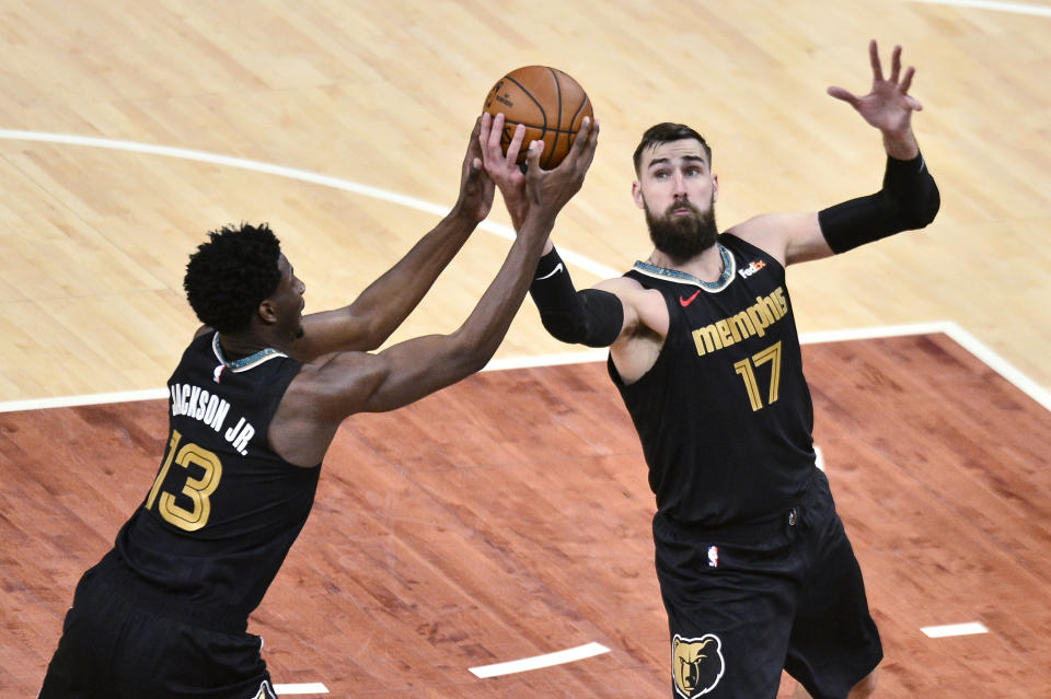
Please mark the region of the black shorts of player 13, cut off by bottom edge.
<svg viewBox="0 0 1051 699"><path fill-rule="evenodd" d="M41 699L276 699L263 639L129 603L109 558L77 586Z"/></svg>

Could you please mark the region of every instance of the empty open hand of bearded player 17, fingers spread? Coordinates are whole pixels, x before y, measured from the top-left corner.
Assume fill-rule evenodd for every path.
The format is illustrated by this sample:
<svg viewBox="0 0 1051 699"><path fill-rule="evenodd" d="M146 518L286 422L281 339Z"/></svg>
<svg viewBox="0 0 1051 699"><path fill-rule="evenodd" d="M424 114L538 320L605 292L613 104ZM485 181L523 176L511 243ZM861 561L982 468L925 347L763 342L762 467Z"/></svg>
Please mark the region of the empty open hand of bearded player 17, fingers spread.
<svg viewBox="0 0 1051 699"><path fill-rule="evenodd" d="M828 93L857 109L865 120L885 136L901 136L911 132L912 113L923 109L917 100L909 95L912 77L916 69L910 66L901 74L901 46L894 46L890 56L890 77L883 77L876 40L868 44L873 66L873 89L867 95L857 96L843 88L831 86Z"/></svg>

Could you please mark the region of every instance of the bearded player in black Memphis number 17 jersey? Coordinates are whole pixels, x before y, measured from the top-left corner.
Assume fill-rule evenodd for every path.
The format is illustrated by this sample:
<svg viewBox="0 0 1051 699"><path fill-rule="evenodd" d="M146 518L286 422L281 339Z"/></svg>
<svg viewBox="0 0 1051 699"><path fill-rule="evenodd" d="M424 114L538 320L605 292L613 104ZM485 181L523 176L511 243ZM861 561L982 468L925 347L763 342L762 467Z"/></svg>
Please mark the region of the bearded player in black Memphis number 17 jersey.
<svg viewBox="0 0 1051 699"><path fill-rule="evenodd" d="M882 657L862 574L815 466L812 406L785 266L927 225L938 190L911 127L914 70L901 48L869 94L841 88L879 129L882 189L820 212L753 218L719 234L712 151L657 125L635 151L632 193L655 249L621 278L577 292L548 244L531 295L556 338L610 347L609 373L638 430L656 494L656 567L671 638L672 696L773 699L782 668L798 697L867 697ZM486 166L512 219L522 174ZM804 690L804 688L806 690ZM807 694L809 692L809 695Z"/></svg>

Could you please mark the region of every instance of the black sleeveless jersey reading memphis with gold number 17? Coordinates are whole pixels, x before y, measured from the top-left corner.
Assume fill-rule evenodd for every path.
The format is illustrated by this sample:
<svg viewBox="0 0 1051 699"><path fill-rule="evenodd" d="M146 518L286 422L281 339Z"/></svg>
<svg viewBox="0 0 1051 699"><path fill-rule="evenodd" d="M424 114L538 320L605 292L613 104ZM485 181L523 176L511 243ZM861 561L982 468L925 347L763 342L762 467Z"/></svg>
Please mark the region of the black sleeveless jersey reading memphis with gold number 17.
<svg viewBox="0 0 1051 699"><path fill-rule="evenodd" d="M813 471L813 407L785 268L729 234L714 284L636 263L625 276L665 298L668 336L654 366L624 385L657 509L718 526L769 516Z"/></svg>

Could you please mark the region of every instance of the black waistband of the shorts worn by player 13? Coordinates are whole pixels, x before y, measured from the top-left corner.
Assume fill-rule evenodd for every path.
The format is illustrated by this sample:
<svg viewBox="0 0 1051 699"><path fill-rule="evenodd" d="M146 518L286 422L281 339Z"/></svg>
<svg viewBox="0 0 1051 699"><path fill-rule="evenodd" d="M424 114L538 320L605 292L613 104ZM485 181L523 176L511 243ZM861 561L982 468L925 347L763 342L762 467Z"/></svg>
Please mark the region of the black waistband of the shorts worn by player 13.
<svg viewBox="0 0 1051 699"><path fill-rule="evenodd" d="M115 551L107 554L95 570L114 587L105 594L117 595L145 611L222 633L244 633L249 628L249 615L243 609L196 604L165 593L137 575Z"/></svg>

